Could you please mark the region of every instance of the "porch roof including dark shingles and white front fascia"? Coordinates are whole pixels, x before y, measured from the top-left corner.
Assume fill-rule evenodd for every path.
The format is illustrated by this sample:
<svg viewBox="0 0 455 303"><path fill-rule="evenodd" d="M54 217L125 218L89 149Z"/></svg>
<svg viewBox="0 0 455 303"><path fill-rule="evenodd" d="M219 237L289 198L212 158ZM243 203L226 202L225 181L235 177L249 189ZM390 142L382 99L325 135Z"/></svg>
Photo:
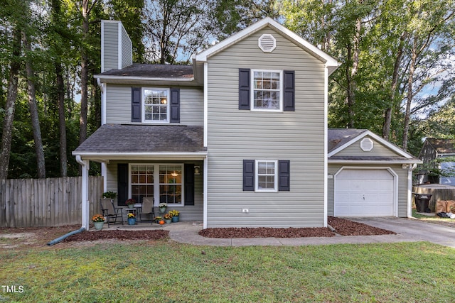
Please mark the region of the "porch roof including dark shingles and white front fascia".
<svg viewBox="0 0 455 303"><path fill-rule="evenodd" d="M105 124L73 155L100 162L119 159L200 160L206 157L203 126Z"/></svg>

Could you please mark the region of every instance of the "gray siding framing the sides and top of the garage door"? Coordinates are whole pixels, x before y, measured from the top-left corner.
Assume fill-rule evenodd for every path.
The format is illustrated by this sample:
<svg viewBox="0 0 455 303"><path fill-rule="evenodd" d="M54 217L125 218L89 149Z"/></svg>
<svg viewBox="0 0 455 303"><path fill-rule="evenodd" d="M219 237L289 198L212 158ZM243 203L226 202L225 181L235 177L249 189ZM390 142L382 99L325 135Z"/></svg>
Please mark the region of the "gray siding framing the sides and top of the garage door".
<svg viewBox="0 0 455 303"><path fill-rule="evenodd" d="M328 165L328 175L335 175L338 170L341 170L341 167L390 167L395 174L398 175L398 212L399 217L407 217L407 169L403 169L402 165L355 165L355 164L329 164ZM335 179L328 179L327 187L327 214L328 216L333 216L333 207L334 207L334 184Z"/></svg>

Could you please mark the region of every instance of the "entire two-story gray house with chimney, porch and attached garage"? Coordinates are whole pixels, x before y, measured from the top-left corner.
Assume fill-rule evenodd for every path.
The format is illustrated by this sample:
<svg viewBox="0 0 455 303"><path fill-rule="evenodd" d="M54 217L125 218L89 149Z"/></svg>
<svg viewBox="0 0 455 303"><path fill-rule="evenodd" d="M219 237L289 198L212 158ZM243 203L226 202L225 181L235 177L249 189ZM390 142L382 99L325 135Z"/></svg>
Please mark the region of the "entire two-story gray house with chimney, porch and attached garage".
<svg viewBox="0 0 455 303"><path fill-rule="evenodd" d="M194 55L192 66L132 64L122 23L101 28L102 126L73 152L83 190L92 160L119 205L153 197L204 228L410 215L419 160L369 131L328 130L328 76L338 62L276 21ZM362 205L370 197L373 206Z"/></svg>

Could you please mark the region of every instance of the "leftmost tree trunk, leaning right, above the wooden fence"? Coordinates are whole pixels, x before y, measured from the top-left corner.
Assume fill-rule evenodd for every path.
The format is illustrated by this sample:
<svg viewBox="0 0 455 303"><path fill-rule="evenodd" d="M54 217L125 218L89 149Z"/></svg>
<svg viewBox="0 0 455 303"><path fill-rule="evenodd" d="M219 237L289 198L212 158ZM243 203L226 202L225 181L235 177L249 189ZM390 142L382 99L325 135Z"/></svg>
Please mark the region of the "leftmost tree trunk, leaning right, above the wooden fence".
<svg viewBox="0 0 455 303"><path fill-rule="evenodd" d="M21 68L19 57L21 55L21 31L13 31L13 56L9 70L8 97L6 97L5 117L0 150L0 180L8 177L9 154L11 152L11 138L13 131L14 109L16 108L18 72Z"/></svg>

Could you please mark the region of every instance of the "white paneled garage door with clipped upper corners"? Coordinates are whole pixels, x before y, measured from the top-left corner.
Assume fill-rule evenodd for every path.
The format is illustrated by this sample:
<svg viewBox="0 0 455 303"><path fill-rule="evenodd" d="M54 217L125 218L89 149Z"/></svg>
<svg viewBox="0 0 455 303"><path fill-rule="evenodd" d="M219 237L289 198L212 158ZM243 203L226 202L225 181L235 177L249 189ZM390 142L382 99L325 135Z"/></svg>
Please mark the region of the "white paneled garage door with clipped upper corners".
<svg viewBox="0 0 455 303"><path fill-rule="evenodd" d="M393 216L395 181L388 170L344 169L335 177L335 216Z"/></svg>

